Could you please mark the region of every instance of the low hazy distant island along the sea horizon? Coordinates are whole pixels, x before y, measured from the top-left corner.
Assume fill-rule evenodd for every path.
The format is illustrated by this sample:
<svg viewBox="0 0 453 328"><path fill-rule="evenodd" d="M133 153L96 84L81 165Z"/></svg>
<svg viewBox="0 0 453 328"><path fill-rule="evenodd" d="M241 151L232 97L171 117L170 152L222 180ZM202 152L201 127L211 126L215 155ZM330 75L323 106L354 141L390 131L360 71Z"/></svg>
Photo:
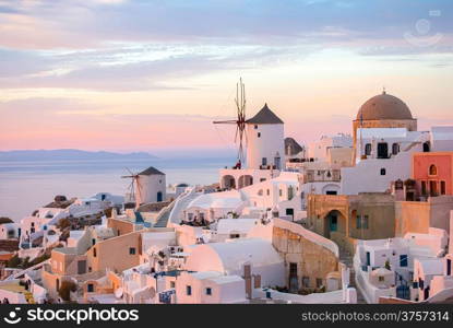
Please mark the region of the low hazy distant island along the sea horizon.
<svg viewBox="0 0 453 328"><path fill-rule="evenodd" d="M158 159L146 152L114 153L90 152L76 149L15 150L0 152L0 161L73 161L73 160L152 160Z"/></svg>

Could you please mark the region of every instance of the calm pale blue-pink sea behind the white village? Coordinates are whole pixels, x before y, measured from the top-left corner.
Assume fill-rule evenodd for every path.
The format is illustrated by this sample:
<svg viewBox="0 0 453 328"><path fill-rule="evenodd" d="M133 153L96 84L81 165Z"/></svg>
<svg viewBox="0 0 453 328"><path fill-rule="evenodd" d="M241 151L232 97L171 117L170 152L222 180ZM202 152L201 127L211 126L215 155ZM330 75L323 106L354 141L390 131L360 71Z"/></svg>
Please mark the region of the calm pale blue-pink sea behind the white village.
<svg viewBox="0 0 453 328"><path fill-rule="evenodd" d="M167 185L208 185L233 159L71 160L0 162L0 216L20 221L51 202L56 195L124 195L131 180L121 178L150 166L166 174Z"/></svg>

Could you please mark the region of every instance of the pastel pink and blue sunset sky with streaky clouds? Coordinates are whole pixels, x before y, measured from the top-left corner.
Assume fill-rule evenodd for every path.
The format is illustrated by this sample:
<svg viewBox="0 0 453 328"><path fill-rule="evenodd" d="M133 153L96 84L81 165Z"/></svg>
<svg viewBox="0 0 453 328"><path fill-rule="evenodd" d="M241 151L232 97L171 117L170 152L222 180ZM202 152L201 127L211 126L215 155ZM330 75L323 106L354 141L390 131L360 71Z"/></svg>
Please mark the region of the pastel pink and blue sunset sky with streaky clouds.
<svg viewBox="0 0 453 328"><path fill-rule="evenodd" d="M453 125L453 1L0 0L0 151L231 150L239 78L300 143L383 87Z"/></svg>

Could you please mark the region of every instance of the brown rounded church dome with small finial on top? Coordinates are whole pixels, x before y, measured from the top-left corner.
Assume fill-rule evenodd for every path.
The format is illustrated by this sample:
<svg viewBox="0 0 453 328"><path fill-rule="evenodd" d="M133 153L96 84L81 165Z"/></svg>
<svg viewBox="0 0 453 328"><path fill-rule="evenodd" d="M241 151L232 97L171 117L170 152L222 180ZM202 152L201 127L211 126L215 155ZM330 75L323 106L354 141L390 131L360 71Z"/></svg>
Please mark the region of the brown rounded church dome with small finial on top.
<svg viewBox="0 0 453 328"><path fill-rule="evenodd" d="M413 119L409 107L400 98L386 94L373 96L361 105L357 120Z"/></svg>

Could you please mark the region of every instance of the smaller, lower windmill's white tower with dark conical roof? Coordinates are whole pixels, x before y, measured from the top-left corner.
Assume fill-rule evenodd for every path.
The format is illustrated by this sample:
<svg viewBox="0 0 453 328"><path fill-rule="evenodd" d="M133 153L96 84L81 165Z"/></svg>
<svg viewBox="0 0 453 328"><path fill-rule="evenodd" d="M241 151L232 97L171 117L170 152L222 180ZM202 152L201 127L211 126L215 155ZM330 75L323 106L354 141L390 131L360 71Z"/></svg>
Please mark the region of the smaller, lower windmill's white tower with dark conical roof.
<svg viewBox="0 0 453 328"><path fill-rule="evenodd" d="M152 166L142 171L135 180L136 206L166 200L166 186L165 173Z"/></svg>

